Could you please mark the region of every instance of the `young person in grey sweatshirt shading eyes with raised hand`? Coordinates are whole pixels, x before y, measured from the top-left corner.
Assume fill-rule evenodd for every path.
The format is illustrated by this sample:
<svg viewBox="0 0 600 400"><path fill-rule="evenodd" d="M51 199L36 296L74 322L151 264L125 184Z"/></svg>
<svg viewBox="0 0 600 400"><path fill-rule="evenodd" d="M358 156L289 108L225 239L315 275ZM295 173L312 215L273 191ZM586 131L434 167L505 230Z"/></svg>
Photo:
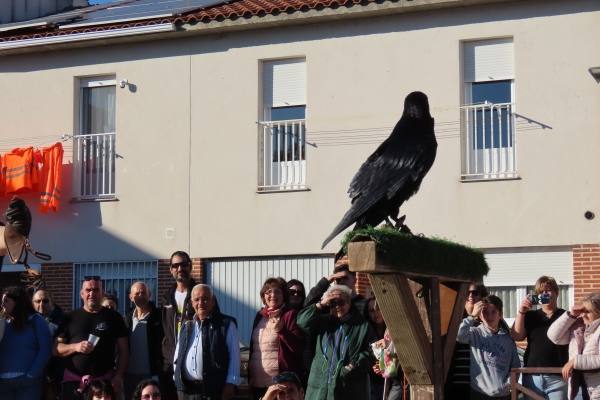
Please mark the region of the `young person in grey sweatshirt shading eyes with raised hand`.
<svg viewBox="0 0 600 400"><path fill-rule="evenodd" d="M510 399L510 370L521 362L502 319L502 300L491 295L476 303L461 323L457 340L471 346L471 399Z"/></svg>

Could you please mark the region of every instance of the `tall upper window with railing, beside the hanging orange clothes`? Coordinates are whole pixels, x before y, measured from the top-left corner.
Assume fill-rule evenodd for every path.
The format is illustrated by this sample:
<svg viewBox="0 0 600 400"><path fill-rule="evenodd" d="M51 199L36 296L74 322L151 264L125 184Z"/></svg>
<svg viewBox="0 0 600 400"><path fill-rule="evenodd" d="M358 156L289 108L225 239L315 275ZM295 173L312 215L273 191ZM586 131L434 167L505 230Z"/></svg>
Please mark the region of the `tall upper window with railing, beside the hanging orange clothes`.
<svg viewBox="0 0 600 400"><path fill-rule="evenodd" d="M81 79L79 132L74 137L74 195L78 199L115 196L115 80Z"/></svg>

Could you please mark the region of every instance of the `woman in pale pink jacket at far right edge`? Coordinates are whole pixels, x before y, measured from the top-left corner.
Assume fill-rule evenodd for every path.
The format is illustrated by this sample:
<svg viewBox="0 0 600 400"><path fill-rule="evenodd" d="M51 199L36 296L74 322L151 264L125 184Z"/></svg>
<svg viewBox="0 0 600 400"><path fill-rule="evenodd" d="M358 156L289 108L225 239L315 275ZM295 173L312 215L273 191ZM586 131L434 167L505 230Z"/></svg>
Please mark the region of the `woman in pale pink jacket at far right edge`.
<svg viewBox="0 0 600 400"><path fill-rule="evenodd" d="M569 399L600 400L600 293L583 298L548 328L555 344L569 345L563 378L569 382Z"/></svg>

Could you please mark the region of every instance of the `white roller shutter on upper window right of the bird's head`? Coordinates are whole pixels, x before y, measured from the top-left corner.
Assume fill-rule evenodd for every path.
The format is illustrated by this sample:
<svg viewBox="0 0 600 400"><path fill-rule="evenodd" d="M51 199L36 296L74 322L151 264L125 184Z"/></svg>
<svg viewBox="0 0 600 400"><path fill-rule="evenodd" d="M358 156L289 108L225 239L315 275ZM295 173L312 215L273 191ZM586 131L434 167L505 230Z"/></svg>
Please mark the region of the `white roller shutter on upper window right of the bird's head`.
<svg viewBox="0 0 600 400"><path fill-rule="evenodd" d="M512 39L484 40L464 44L465 82L514 78Z"/></svg>

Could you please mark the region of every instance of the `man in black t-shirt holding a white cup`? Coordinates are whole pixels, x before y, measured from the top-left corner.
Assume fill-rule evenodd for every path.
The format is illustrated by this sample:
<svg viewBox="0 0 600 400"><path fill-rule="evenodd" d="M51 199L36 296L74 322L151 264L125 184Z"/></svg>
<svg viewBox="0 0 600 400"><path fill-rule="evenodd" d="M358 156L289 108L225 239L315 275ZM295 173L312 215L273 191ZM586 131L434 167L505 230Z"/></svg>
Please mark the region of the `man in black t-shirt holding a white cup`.
<svg viewBox="0 0 600 400"><path fill-rule="evenodd" d="M84 278L80 296L83 307L69 313L57 331L55 354L65 367L62 398L79 399L85 382L98 379L110 380L121 393L129 358L125 322L118 312L102 307L99 276Z"/></svg>

